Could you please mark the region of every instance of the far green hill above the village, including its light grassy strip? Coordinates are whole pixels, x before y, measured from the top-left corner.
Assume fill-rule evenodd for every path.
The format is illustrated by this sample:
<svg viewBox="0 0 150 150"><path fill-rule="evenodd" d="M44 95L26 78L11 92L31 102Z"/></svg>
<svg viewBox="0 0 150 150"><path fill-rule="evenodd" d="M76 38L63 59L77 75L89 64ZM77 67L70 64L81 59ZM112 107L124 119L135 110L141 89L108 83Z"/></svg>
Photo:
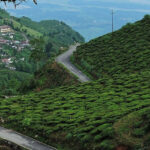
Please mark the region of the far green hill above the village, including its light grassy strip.
<svg viewBox="0 0 150 150"><path fill-rule="evenodd" d="M51 43L50 49L58 54L61 47L68 47L74 42L84 42L84 38L64 22L57 20L32 21L30 18L17 18L10 16L5 10L0 9L0 25L10 25L14 30L25 33L30 39L44 37L46 43Z"/></svg>

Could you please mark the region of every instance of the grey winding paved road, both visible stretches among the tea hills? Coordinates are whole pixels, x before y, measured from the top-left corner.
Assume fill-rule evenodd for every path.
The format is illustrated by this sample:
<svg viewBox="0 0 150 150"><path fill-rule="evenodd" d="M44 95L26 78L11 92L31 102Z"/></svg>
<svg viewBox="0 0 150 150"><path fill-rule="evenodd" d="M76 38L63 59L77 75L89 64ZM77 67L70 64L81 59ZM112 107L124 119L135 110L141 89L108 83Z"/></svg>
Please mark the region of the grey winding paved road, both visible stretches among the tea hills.
<svg viewBox="0 0 150 150"><path fill-rule="evenodd" d="M79 69L77 69L70 61L71 55L74 51L76 51L76 48L79 45L80 44L70 46L68 51L56 58L56 62L63 64L71 73L79 78L80 82L88 82L90 79ZM3 127L0 127L0 138L21 146L27 150L57 150L54 147Z"/></svg>

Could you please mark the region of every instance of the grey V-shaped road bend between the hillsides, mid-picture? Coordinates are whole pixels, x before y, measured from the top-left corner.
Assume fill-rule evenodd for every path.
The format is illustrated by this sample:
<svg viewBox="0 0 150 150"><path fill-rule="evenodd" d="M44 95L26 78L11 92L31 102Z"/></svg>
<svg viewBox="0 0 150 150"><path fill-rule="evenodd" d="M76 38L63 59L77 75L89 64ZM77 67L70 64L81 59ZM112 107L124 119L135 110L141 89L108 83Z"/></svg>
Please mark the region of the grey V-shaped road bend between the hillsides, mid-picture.
<svg viewBox="0 0 150 150"><path fill-rule="evenodd" d="M70 56L73 54L74 51L76 51L76 48L79 45L80 44L70 46L68 51L59 55L56 58L56 61L58 63L63 64L70 72L72 72L75 76L77 76L80 82L88 82L90 81L90 79L70 62Z"/></svg>

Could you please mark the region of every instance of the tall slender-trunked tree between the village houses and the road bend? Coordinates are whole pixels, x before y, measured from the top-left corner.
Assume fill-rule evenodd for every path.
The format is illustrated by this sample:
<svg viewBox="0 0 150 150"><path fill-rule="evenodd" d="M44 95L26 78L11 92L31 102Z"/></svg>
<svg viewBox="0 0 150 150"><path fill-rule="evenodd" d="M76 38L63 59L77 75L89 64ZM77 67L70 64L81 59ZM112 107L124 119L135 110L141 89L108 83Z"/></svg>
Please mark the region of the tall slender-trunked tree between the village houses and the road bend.
<svg viewBox="0 0 150 150"><path fill-rule="evenodd" d="M43 38L35 38L30 41L32 47L32 53L30 55L30 60L33 60L36 63L36 70L39 69L39 62L46 58L45 55L45 41Z"/></svg>

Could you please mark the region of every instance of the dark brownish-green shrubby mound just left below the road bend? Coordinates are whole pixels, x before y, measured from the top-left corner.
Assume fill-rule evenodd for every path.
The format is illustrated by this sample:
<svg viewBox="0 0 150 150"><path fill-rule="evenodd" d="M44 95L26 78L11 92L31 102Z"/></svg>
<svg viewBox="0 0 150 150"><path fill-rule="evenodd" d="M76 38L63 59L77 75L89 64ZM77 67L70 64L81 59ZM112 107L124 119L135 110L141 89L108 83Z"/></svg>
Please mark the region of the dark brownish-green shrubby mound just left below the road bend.
<svg viewBox="0 0 150 150"><path fill-rule="evenodd" d="M70 86L78 83L78 79L68 73L63 66L56 62L49 61L40 70L34 73L31 80L23 82L22 87L20 87L20 92L41 91L47 88L50 89L65 85Z"/></svg>

